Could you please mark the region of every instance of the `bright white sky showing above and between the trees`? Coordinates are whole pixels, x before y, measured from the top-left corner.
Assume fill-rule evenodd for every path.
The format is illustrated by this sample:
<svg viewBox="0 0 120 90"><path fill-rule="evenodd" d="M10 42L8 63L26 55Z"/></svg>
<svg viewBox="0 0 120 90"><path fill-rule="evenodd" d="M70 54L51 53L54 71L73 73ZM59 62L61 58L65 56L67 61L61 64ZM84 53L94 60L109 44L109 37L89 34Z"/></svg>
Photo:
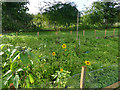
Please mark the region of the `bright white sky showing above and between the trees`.
<svg viewBox="0 0 120 90"><path fill-rule="evenodd" d="M43 1L53 2L53 0L29 0L30 5L29 4L27 5L29 8L28 13L37 14L39 12L38 7L45 5L44 3L41 3L41 5L38 5L38 3L43 2ZM78 6L77 7L78 10L81 11L81 10L84 10L86 6L89 7L92 4L92 2L97 1L97 0L56 0L56 1L62 1L63 3L65 1L75 2L75 4Z"/></svg>

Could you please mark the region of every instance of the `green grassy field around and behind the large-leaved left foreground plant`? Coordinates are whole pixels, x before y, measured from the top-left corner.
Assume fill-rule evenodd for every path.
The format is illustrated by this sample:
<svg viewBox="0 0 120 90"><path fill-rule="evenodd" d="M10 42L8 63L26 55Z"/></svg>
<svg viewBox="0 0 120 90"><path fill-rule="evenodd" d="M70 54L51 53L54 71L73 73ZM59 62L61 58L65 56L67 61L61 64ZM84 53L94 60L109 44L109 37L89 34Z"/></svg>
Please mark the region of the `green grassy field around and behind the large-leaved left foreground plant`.
<svg viewBox="0 0 120 90"><path fill-rule="evenodd" d="M118 31L119 30L116 29L115 35L118 35ZM82 33L82 31L79 31L80 43L79 39L76 40L76 31L73 31L72 35L70 35L70 32L59 31L57 36L54 31L40 32L39 37L37 37L36 32L19 32L17 37L15 36L16 33L3 34L4 36L1 37L1 44L10 44L13 45L13 48L16 46L31 48L31 52L37 57L37 59L39 59L37 61L36 58L32 58L32 70L29 67L28 72L26 72L27 74L23 71L18 73L19 78L21 78L19 81L19 87L64 88L65 85L67 85L71 88L79 88L79 77L82 66L87 66L86 88L94 88L95 86L97 86L96 88L103 88L117 82L118 73L114 74L113 72L118 72L118 37L104 38L104 30L96 30L96 37L102 37L100 39L96 39L94 36L94 30L86 30L84 37ZM113 29L107 30L106 36L111 35L113 35ZM62 48L63 44L66 44L66 48ZM8 48L10 47L3 50L8 50ZM13 48L10 49L13 50ZM55 52L55 56L52 55L53 52ZM8 56L6 53L2 55L3 74L11 69L11 62L7 60ZM20 59L22 58L20 57ZM85 61L89 61L91 65L86 65ZM5 62L9 64L4 66ZM112 65L114 66L112 67ZM109 66L111 66L111 68ZM23 68L22 64L21 66L18 65L15 67L15 69L16 68ZM60 75L64 76L65 74L66 76L68 75L66 71L69 71L69 79L67 79L67 77L61 78L62 76L58 76L59 78L57 77L57 79L54 79L51 76L54 75L56 71L60 71L61 68L63 69L63 74L60 72ZM101 71L89 73L90 71L102 68L106 68L104 73ZM32 74L32 79L34 80L34 83L31 83L31 80L29 79L30 85L28 85L25 81L26 77L28 77L27 75L29 75L28 73ZM107 73L114 77L112 78L112 76L110 76L111 79L109 79L109 77L101 77L99 82L100 84L98 84L98 81L94 80L93 84L95 86L91 87L92 83L90 83L90 79L94 79L95 75L101 76L103 74L107 75ZM77 79L72 79L74 75ZM6 85L3 85L3 87L8 87L9 84L14 81L13 78L9 79L9 82ZM59 82L54 82L54 84L51 84L55 80L59 80ZM77 84L70 83L68 80ZM64 82L61 84L60 81ZM107 81L108 83L105 83L104 85L102 84Z"/></svg>

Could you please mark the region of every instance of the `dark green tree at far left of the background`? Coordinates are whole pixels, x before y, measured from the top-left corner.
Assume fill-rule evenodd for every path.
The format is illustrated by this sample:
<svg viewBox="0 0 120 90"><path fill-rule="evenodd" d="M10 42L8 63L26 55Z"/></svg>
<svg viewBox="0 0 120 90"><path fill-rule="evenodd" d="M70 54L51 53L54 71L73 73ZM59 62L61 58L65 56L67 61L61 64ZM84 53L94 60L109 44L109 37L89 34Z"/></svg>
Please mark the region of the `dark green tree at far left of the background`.
<svg viewBox="0 0 120 90"><path fill-rule="evenodd" d="M25 6L28 2L3 2L2 3L2 29L5 31L17 31L20 28L27 28L32 19L31 15L26 13Z"/></svg>

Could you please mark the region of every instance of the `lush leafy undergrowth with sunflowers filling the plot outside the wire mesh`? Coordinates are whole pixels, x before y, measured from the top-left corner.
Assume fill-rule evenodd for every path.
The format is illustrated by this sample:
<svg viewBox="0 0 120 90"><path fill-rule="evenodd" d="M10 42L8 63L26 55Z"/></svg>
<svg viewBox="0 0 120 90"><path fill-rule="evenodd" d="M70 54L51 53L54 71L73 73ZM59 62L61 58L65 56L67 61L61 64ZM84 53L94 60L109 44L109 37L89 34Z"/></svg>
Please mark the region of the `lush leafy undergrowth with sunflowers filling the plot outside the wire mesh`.
<svg viewBox="0 0 120 90"><path fill-rule="evenodd" d="M59 32L56 36L45 32L39 37L25 33L1 37L3 88L10 83L17 88L64 88L67 79L80 73L82 66L87 66L89 72L117 65L118 37L96 39L81 35L79 43L75 34ZM66 47L62 47L63 44ZM86 65L85 61L91 65Z"/></svg>

